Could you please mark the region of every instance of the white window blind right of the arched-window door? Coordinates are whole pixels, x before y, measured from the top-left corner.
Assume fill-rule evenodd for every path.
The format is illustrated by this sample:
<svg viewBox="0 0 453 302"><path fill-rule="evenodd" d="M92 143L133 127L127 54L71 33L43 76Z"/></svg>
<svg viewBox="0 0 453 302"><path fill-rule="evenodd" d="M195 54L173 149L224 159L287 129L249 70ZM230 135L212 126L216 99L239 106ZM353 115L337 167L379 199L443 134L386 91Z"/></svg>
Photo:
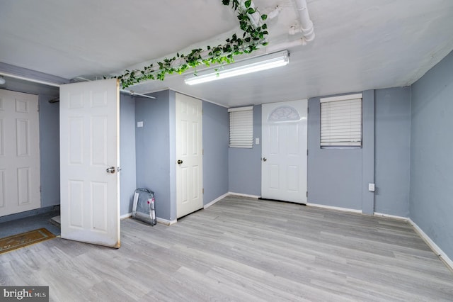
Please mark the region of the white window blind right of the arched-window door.
<svg viewBox="0 0 453 302"><path fill-rule="evenodd" d="M321 99L321 147L362 145L362 94Z"/></svg>

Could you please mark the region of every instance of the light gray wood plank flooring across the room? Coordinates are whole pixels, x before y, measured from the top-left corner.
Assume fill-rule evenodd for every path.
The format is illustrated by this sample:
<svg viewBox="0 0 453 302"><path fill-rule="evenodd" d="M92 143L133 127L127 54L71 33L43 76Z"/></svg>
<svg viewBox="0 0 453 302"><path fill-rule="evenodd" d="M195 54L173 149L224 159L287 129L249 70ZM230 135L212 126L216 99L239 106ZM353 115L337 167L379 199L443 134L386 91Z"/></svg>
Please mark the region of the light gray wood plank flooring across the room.
<svg viewBox="0 0 453 302"><path fill-rule="evenodd" d="M48 240L0 256L1 285L50 301L453 301L453 273L411 225L229 196L119 250Z"/></svg>

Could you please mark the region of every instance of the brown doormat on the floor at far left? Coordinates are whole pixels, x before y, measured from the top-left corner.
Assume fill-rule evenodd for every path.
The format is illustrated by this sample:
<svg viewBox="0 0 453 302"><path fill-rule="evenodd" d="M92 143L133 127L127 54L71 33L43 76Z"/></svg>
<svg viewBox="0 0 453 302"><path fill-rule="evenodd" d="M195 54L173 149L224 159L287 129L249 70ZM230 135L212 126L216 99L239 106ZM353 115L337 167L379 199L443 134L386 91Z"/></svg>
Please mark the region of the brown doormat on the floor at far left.
<svg viewBox="0 0 453 302"><path fill-rule="evenodd" d="M0 254L11 252L12 250L17 250L18 248L33 245L52 238L55 238L55 235L50 233L45 228L30 230L30 232L4 237L0 239Z"/></svg>

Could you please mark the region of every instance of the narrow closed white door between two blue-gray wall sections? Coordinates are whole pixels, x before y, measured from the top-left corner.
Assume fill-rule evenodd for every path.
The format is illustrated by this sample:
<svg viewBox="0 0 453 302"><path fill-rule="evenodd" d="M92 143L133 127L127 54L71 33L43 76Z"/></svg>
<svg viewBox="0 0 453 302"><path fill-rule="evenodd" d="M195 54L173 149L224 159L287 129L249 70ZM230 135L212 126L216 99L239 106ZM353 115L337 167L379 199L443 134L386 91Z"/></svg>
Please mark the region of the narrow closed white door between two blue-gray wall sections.
<svg viewBox="0 0 453 302"><path fill-rule="evenodd" d="M176 94L176 217L203 207L202 101Z"/></svg>

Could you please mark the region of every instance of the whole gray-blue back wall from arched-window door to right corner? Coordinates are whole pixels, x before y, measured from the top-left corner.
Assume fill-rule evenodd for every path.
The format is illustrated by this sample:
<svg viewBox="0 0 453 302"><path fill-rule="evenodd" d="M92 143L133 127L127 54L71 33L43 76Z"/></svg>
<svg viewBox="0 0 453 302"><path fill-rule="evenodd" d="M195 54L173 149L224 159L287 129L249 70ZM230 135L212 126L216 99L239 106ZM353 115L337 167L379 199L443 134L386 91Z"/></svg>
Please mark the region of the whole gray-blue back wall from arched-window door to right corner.
<svg viewBox="0 0 453 302"><path fill-rule="evenodd" d="M362 111L361 149L321 149L319 98L309 100L308 201L408 217L411 89L363 91Z"/></svg>

